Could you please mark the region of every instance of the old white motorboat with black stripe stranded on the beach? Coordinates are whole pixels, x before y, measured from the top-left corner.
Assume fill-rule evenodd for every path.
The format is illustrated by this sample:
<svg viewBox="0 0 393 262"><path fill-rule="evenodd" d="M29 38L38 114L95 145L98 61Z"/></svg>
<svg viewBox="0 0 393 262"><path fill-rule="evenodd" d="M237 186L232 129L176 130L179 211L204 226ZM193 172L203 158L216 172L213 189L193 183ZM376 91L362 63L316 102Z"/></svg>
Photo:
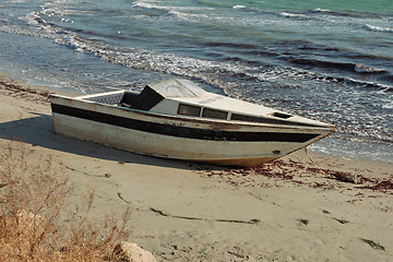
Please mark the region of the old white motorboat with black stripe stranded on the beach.
<svg viewBox="0 0 393 262"><path fill-rule="evenodd" d="M133 153L250 167L335 131L329 123L204 91L189 80L51 95L55 132Z"/></svg>

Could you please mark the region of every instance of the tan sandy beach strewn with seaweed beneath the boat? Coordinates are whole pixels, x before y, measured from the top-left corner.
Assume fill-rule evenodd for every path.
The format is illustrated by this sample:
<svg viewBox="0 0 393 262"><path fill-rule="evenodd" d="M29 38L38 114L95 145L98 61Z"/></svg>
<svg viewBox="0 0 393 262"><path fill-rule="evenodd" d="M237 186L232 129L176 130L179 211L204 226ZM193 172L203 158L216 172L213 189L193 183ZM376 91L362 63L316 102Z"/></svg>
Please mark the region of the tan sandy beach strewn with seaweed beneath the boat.
<svg viewBox="0 0 393 262"><path fill-rule="evenodd" d="M158 261L393 261L393 164L303 151L252 169L141 156L53 133L49 88L0 73L0 148L61 160L92 219L132 209ZM327 178L358 175L359 183Z"/></svg>

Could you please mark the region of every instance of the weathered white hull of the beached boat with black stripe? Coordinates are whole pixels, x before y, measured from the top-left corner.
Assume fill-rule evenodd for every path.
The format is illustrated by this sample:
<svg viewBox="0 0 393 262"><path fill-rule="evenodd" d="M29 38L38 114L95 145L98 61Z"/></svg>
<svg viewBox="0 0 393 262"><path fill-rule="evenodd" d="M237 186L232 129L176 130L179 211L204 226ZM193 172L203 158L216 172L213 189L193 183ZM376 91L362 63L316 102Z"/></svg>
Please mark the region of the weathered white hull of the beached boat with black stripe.
<svg viewBox="0 0 393 262"><path fill-rule="evenodd" d="M307 146L333 129L201 120L52 97L55 131L138 154L255 166Z"/></svg>

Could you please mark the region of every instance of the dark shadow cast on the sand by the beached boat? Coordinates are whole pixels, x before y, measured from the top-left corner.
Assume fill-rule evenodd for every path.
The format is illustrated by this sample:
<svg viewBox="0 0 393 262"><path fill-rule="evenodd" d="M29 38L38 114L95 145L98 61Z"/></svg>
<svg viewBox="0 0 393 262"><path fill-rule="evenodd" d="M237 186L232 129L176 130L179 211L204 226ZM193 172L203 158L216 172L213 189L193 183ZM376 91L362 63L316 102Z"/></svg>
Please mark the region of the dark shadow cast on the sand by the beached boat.
<svg viewBox="0 0 393 262"><path fill-rule="evenodd" d="M191 170L211 168L222 169L222 167L207 164L139 155L131 152L96 144L93 142L86 142L73 138L59 135L56 134L53 131L53 120L51 116L39 115L35 112L29 114L35 115L35 117L1 122L0 138L9 141L24 142L33 146L41 146L63 153L88 156L93 158L112 160L118 163L132 163Z"/></svg>

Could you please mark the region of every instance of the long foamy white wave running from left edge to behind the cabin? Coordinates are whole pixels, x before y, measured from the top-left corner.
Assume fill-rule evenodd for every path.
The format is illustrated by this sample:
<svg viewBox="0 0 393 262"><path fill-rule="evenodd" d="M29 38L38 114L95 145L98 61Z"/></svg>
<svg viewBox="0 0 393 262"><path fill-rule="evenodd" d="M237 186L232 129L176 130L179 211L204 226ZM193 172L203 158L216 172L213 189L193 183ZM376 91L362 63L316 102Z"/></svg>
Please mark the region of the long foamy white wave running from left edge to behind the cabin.
<svg viewBox="0 0 393 262"><path fill-rule="evenodd" d="M26 16L28 27L0 25L0 31L52 39L55 43L68 46L75 51L91 53L103 60L126 66L128 68L153 71L205 82L221 90L226 88L226 83L217 79L217 72L225 75L235 75L239 72L251 70L243 64L230 61L211 61L201 58L160 52L144 48L128 48L116 46L103 40L84 38L83 35L94 35L94 32L74 31L47 23L37 13ZM229 84L230 85L230 84ZM235 84L234 84L235 85Z"/></svg>

